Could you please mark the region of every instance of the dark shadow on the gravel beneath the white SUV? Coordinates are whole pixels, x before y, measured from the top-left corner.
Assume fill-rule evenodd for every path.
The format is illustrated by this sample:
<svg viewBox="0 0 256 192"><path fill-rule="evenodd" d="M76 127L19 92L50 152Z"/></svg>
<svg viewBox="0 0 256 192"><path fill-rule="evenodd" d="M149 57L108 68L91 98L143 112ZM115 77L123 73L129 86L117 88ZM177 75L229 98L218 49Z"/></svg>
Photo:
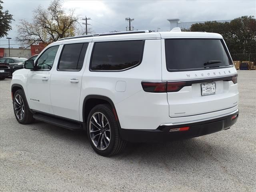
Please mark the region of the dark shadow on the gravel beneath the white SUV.
<svg viewBox="0 0 256 192"><path fill-rule="evenodd" d="M72 141L72 145L84 145L86 150L93 151L87 134L83 130L72 131L40 121L36 121L31 125L31 129L36 128L41 134L50 136L52 140ZM214 159L214 156L218 156L220 153L227 153L226 150L228 149L225 149L224 146L218 143L212 143L210 137L202 136L199 138L160 143L128 143L120 154L109 158L115 160L145 159L146 161L150 159L153 162L159 161L159 159L165 160L171 158L172 161L180 161L188 158L191 161L199 161L201 158L205 158L205 156Z"/></svg>

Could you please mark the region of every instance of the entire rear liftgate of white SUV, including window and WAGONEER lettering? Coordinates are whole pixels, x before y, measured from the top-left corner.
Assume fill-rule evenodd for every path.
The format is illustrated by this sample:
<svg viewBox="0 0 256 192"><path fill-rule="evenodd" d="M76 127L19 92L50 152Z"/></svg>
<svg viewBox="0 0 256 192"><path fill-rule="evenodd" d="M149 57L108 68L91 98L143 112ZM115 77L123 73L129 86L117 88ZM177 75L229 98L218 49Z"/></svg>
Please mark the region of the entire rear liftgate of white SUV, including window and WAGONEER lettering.
<svg viewBox="0 0 256 192"><path fill-rule="evenodd" d="M162 39L162 50L170 117L205 114L238 104L236 69L222 39Z"/></svg>

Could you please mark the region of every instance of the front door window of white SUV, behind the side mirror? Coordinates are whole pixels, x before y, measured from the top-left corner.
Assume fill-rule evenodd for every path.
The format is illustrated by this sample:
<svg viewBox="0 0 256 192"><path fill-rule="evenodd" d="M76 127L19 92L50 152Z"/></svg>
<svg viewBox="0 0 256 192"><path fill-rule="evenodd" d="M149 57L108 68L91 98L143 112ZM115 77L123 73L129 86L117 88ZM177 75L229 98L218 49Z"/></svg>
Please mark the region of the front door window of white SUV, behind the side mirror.
<svg viewBox="0 0 256 192"><path fill-rule="evenodd" d="M36 70L51 70L58 48L53 46L43 52L36 62Z"/></svg>

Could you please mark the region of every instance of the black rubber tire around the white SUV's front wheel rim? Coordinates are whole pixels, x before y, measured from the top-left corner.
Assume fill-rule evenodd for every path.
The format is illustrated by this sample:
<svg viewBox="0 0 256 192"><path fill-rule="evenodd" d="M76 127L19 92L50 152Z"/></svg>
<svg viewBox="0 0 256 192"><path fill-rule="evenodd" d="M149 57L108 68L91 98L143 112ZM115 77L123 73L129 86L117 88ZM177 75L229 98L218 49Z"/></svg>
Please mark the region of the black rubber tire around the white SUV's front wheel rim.
<svg viewBox="0 0 256 192"><path fill-rule="evenodd" d="M24 107L24 115L23 115L23 118L19 118L18 115L16 114L16 111L15 111L15 104L14 102L15 101L15 98L17 97L21 97L22 98L22 102L20 102L21 104L23 103ZM20 123L20 124L30 124L32 122L34 122L34 118L33 118L33 114L32 112L30 112L29 108L28 108L28 103L26 101L26 97L25 97L25 94L24 92L19 89L17 90L15 93L14 93L14 96L13 96L13 110L14 110L14 115L16 117L16 120Z"/></svg>

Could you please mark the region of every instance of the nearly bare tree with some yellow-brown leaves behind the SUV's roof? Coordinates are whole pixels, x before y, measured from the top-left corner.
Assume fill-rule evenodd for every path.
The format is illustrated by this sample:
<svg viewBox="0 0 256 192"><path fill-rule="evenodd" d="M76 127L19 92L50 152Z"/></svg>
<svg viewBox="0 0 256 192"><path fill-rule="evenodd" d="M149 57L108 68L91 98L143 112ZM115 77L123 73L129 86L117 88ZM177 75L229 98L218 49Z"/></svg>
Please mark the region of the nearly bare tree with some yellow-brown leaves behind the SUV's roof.
<svg viewBox="0 0 256 192"><path fill-rule="evenodd" d="M34 10L33 22L20 20L17 40L25 45L43 42L49 44L60 38L74 36L78 16L74 10L64 12L62 1L53 0L47 9L39 6Z"/></svg>

